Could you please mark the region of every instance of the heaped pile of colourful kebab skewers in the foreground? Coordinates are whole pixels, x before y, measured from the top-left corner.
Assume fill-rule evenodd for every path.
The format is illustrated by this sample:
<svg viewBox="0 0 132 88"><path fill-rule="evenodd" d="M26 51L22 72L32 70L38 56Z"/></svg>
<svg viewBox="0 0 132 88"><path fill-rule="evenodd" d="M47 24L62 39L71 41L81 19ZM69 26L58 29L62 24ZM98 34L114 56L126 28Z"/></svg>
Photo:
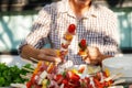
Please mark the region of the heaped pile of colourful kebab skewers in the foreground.
<svg viewBox="0 0 132 88"><path fill-rule="evenodd" d="M25 84L26 88L108 88L124 80L118 79L121 75L110 76L108 70L87 74L87 65L76 68L59 68L52 64L40 61Z"/></svg>

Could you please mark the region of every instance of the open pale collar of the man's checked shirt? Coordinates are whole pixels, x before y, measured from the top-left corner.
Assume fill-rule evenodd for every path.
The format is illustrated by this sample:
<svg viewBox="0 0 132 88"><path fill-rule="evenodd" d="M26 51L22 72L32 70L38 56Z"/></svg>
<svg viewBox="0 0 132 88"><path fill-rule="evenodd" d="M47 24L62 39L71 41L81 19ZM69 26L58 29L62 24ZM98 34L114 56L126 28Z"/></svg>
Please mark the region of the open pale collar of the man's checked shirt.
<svg viewBox="0 0 132 88"><path fill-rule="evenodd" d="M74 12L70 10L68 0L62 0L63 4L58 4L62 6L62 8L58 9L59 13L67 13L70 16L75 16ZM97 18L97 4L91 3L90 9L84 14L84 18Z"/></svg>

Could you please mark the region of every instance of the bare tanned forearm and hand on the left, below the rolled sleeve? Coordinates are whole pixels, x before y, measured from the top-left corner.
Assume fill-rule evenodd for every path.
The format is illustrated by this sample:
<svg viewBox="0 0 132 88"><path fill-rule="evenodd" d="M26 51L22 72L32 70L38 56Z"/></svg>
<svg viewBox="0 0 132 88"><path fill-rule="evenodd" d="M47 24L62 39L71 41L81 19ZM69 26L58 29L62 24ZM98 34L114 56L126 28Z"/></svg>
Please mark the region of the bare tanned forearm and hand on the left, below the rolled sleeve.
<svg viewBox="0 0 132 88"><path fill-rule="evenodd" d="M30 59L35 58L38 61L47 61L47 62L54 62L54 63L61 63L62 59L57 55L57 50L52 50L52 48L34 48L31 45L24 45L22 47L21 56L23 58Z"/></svg>

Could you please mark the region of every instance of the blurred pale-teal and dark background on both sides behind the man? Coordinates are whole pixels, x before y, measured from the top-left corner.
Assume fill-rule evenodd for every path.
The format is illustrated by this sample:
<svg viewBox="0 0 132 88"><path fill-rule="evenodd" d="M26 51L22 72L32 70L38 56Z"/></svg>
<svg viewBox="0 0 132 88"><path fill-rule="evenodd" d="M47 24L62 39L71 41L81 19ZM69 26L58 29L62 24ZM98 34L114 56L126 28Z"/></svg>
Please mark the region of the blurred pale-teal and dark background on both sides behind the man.
<svg viewBox="0 0 132 88"><path fill-rule="evenodd" d="M0 54L18 54L38 10L57 0L0 0ZM132 54L132 0L96 0L114 11L119 20L120 47Z"/></svg>

